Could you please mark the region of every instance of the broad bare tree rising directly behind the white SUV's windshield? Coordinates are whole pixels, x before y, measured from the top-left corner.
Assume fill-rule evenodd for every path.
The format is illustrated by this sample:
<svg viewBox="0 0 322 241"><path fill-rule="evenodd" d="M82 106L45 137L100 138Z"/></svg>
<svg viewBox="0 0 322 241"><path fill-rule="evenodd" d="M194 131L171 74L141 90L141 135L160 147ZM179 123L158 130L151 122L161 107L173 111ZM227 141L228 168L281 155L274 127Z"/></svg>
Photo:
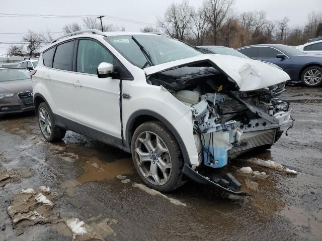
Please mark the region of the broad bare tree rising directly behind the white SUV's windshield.
<svg viewBox="0 0 322 241"><path fill-rule="evenodd" d="M179 4L171 4L163 20L157 20L158 26L167 34L180 40L188 36L192 19L192 7L189 0L183 0Z"/></svg>

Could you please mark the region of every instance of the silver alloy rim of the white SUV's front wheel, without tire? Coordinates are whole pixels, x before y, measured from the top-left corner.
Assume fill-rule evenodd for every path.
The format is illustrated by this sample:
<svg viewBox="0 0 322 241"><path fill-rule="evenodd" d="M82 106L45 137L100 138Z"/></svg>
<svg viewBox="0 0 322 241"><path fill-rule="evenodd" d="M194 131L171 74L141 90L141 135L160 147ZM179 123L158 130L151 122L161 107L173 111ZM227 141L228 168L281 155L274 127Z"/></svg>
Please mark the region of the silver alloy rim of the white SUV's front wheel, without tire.
<svg viewBox="0 0 322 241"><path fill-rule="evenodd" d="M142 132L135 141L135 161L143 177L164 185L171 176L171 157L164 141L153 132Z"/></svg>

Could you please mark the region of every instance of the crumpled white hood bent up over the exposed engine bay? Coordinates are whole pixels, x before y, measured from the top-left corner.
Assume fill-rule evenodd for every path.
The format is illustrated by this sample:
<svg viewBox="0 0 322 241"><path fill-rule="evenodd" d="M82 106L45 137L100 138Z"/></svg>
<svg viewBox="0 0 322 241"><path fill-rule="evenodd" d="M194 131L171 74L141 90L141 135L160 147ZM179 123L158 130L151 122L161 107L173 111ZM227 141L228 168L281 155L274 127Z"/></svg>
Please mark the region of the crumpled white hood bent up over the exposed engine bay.
<svg viewBox="0 0 322 241"><path fill-rule="evenodd" d="M290 80L283 70L258 60L229 55L201 54L192 58L176 60L144 68L147 76L182 65L209 61L214 67L235 82L240 91L251 91Z"/></svg>

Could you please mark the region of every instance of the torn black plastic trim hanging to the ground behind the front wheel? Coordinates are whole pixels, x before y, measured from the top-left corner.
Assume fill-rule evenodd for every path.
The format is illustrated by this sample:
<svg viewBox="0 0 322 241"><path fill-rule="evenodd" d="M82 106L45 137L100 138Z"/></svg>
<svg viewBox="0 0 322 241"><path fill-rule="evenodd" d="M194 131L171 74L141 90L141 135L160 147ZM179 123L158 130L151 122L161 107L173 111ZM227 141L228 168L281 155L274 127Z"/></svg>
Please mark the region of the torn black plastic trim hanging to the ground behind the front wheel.
<svg viewBox="0 0 322 241"><path fill-rule="evenodd" d="M241 184L231 174L226 174L223 178L218 176L209 178L194 171L187 163L185 163L182 172L195 182L211 185L221 191L240 196L250 195L246 192L239 191Z"/></svg>

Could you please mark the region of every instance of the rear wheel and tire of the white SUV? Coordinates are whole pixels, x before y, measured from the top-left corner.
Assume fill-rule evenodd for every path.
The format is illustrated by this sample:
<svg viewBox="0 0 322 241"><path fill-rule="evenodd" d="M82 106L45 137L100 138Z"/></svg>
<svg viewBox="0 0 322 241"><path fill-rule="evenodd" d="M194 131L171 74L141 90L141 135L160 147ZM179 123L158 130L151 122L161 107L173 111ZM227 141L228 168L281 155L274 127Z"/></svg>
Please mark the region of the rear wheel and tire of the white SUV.
<svg viewBox="0 0 322 241"><path fill-rule="evenodd" d="M55 125L54 115L45 102L38 106L37 116L41 134L47 142L59 142L65 137L66 130Z"/></svg>

